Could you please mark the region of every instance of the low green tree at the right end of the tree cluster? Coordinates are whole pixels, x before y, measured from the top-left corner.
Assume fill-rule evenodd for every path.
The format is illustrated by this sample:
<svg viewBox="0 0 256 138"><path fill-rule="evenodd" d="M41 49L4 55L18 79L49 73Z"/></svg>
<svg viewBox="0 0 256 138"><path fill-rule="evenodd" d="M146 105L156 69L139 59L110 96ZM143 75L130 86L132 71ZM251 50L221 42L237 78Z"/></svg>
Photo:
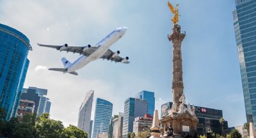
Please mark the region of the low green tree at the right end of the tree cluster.
<svg viewBox="0 0 256 138"><path fill-rule="evenodd" d="M69 138L69 137L87 138L87 133L75 127L74 125L69 125L69 127L63 129L60 137L61 138Z"/></svg>

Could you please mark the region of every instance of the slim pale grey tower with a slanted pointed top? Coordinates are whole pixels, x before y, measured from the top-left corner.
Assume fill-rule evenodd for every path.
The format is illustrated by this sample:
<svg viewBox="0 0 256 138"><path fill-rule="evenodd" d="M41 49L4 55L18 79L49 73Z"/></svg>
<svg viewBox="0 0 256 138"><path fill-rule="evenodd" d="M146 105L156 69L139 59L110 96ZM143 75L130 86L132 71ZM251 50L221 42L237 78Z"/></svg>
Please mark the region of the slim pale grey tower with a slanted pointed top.
<svg viewBox="0 0 256 138"><path fill-rule="evenodd" d="M83 103L80 106L78 113L78 128L86 131L89 135L90 133L90 122L92 114L92 102L93 102L94 91L90 90L87 92L86 97L84 98Z"/></svg>

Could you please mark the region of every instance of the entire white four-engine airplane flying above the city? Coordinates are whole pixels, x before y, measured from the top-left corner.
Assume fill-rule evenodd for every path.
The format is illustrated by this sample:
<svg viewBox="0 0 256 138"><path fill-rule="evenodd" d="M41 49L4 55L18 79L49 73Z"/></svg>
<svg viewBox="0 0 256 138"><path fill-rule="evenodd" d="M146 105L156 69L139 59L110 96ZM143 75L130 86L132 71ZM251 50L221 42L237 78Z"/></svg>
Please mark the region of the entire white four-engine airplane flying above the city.
<svg viewBox="0 0 256 138"><path fill-rule="evenodd" d="M48 70L52 71L61 71L63 73L70 73L73 75L78 75L76 73L76 70L83 68L85 65L89 64L91 61L95 61L96 59L102 58L107 59L114 62L122 62L124 64L129 64L128 56L125 58L121 58L119 56L120 51L117 50L117 52L112 52L109 47L115 43L117 40L123 37L125 34L127 28L126 27L120 27L115 29L113 32L111 32L107 37L99 41L95 46L91 46L88 44L87 46L78 47L78 46L68 46L67 44L64 44L63 46L53 46L53 45L46 45L46 44L38 44L42 47L51 47L57 50L66 51L66 52L73 52L73 53L79 53L80 58L76 59L75 62L71 63L66 58L61 58L61 61L63 62L64 68L49 68Z"/></svg>

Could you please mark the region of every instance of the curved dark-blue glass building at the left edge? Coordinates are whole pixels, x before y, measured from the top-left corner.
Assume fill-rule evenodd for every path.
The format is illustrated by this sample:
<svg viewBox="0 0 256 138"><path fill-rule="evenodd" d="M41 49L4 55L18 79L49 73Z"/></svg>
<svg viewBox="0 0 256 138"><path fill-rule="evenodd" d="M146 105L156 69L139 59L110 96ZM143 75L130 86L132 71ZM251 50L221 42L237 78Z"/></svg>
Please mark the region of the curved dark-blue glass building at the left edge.
<svg viewBox="0 0 256 138"><path fill-rule="evenodd" d="M29 61L30 41L21 32L0 24L0 107L5 119L15 116Z"/></svg>

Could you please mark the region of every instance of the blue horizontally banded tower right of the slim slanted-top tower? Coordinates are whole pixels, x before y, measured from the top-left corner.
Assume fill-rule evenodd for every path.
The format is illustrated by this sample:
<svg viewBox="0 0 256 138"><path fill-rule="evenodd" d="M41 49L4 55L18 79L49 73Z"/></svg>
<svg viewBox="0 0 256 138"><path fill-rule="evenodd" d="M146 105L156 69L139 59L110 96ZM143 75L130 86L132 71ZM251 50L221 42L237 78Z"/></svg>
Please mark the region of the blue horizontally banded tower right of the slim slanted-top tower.
<svg viewBox="0 0 256 138"><path fill-rule="evenodd" d="M96 99L92 138L96 138L97 134L108 133L112 112L112 103L101 98Z"/></svg>

